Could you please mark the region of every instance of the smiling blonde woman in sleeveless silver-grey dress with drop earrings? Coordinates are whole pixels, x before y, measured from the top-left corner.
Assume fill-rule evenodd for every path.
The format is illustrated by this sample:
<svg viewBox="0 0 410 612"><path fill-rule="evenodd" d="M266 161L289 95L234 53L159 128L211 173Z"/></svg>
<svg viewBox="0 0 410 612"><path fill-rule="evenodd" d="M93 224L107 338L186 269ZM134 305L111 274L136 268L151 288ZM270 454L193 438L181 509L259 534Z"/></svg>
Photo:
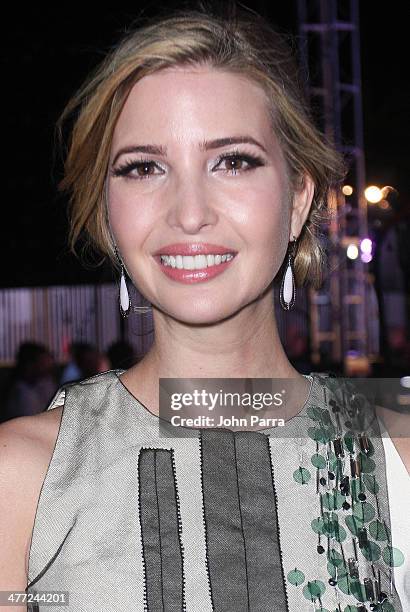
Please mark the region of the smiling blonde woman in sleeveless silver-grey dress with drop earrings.
<svg viewBox="0 0 410 612"><path fill-rule="evenodd" d="M357 510L370 502L359 439L341 438L340 389L292 367L275 321L278 273L286 309L293 277L320 281L315 229L345 172L287 46L253 14L176 12L127 34L60 124L77 109L61 185L71 243L85 232L121 271L124 315L127 273L155 341L130 369L67 385L44 414L3 428L14 512L1 587L68 591L56 610L404 609L394 585L385 592L391 565L363 543ZM160 378L221 377L291 381L284 425L161 435ZM369 466L381 442L360 443Z"/></svg>

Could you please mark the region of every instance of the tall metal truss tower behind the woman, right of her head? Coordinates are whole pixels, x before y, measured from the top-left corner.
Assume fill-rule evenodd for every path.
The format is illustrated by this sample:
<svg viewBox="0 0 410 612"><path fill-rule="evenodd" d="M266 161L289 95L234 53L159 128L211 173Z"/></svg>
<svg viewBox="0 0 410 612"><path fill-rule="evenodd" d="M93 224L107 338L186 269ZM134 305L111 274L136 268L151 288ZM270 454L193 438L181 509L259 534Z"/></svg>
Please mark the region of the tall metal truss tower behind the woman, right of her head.
<svg viewBox="0 0 410 612"><path fill-rule="evenodd" d="M329 201L325 228L330 273L322 288L309 289L314 363L343 363L345 371L369 364L368 274L348 244L367 236L358 0L298 0L299 52L304 82L319 127L350 162L353 193Z"/></svg>

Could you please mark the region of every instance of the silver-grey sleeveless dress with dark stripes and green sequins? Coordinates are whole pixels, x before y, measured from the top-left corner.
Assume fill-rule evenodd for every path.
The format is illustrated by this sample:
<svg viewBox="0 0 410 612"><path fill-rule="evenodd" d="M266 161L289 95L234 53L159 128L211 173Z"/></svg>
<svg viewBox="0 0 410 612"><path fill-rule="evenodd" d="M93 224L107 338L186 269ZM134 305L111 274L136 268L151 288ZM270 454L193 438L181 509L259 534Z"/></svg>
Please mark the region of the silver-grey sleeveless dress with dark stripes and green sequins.
<svg viewBox="0 0 410 612"><path fill-rule="evenodd" d="M124 371L65 384L47 408L64 405L28 610L410 609L395 585L408 561L391 539L377 419L356 434L343 379L307 376L308 398L283 427L166 438ZM50 591L68 604L42 605Z"/></svg>

